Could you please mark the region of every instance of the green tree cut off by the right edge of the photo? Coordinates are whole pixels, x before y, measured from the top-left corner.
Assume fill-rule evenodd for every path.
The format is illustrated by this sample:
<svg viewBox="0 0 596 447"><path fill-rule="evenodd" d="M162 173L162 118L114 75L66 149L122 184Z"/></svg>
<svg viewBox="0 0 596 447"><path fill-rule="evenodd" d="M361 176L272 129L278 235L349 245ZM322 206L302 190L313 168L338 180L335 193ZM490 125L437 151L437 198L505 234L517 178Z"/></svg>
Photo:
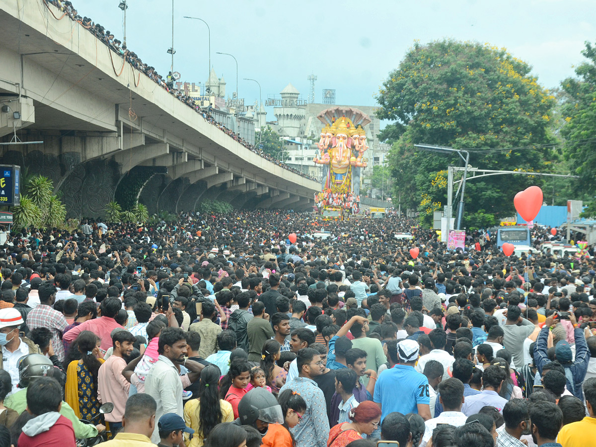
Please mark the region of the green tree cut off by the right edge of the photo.
<svg viewBox="0 0 596 447"><path fill-rule="evenodd" d="M565 124L561 135L567 140L564 156L577 175L575 198L588 200L586 214L596 216L596 46L586 42L582 51L586 58L576 67L577 77L569 77L561 82L567 97L561 110ZM582 196L583 194L583 196Z"/></svg>

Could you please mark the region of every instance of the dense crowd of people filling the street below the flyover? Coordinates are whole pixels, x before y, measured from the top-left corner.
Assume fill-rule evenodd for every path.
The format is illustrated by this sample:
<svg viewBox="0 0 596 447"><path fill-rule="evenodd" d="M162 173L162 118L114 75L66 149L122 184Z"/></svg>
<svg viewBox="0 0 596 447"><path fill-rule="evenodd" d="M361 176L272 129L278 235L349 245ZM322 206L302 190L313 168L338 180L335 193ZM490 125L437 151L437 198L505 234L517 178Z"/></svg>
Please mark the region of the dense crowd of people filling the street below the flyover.
<svg viewBox="0 0 596 447"><path fill-rule="evenodd" d="M0 447L596 445L593 247L547 230L520 258L395 213L11 234Z"/></svg>

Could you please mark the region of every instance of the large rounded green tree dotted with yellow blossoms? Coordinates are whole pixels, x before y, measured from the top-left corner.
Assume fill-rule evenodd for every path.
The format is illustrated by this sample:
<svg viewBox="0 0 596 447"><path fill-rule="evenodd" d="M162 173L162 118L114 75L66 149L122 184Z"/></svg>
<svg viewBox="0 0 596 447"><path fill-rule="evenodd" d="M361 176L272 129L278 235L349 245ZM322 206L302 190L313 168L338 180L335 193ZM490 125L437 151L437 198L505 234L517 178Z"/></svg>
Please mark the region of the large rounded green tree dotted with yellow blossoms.
<svg viewBox="0 0 596 447"><path fill-rule="evenodd" d="M544 172L556 159L549 148L539 147L554 141L549 130L554 97L530 75L529 65L503 48L451 40L415 43L377 101L378 117L394 121L381 134L394 143L393 197L401 190L402 206L417 208L427 223L446 203L446 167L461 162L456 154L427 153L414 144L474 148L470 164L485 169ZM492 222L513 215L513 196L540 181L492 176L468 182L464 225L478 226L479 216Z"/></svg>

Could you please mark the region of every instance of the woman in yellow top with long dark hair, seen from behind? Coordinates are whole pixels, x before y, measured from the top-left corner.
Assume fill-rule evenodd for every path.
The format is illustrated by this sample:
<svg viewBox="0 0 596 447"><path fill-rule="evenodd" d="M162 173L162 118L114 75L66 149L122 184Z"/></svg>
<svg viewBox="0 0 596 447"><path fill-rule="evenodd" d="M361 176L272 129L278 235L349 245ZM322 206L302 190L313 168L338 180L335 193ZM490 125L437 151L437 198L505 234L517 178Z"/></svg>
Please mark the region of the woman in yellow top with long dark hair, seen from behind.
<svg viewBox="0 0 596 447"><path fill-rule="evenodd" d="M184 406L184 421L194 430L193 439L190 442L186 439L188 447L203 446L205 438L217 424L234 421L231 403L219 398L219 377L219 367L204 367L198 384L198 398L191 399Z"/></svg>

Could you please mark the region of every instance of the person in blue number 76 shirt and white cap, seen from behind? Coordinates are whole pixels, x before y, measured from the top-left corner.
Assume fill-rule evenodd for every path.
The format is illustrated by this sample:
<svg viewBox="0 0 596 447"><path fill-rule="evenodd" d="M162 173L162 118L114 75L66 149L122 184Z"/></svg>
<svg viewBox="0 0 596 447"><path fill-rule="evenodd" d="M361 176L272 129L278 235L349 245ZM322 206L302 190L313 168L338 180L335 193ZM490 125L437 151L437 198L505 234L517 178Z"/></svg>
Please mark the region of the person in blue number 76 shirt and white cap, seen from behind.
<svg viewBox="0 0 596 447"><path fill-rule="evenodd" d="M414 340L387 343L387 353L396 365L378 375L373 396L373 401L381 408L381 422L393 411L418 413L425 421L429 420L429 380L414 369L418 343Z"/></svg>

